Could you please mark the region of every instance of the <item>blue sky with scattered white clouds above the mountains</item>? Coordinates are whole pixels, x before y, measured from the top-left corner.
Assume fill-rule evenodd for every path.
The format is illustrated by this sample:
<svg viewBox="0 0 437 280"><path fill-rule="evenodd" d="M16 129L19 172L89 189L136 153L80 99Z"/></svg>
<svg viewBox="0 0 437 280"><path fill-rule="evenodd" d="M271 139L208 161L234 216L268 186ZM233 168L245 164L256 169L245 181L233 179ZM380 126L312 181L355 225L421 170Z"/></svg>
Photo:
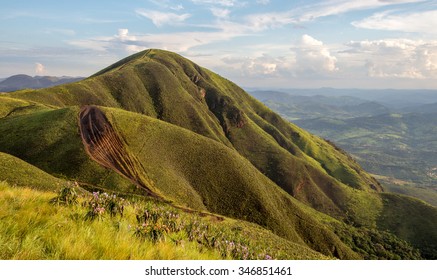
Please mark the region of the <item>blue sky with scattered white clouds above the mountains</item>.
<svg viewBox="0 0 437 280"><path fill-rule="evenodd" d="M437 89L437 0L2 1L0 78L173 51L245 88Z"/></svg>

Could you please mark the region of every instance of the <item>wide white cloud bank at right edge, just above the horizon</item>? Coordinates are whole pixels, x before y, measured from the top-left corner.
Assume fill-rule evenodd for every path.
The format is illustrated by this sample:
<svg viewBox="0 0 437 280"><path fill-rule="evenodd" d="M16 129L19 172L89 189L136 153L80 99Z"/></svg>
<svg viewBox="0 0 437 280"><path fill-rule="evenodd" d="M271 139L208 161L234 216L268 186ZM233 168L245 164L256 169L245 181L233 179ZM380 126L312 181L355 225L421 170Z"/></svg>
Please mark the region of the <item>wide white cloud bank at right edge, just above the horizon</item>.
<svg viewBox="0 0 437 280"><path fill-rule="evenodd" d="M437 78L437 41L385 39L354 41L346 55L373 78Z"/></svg>

